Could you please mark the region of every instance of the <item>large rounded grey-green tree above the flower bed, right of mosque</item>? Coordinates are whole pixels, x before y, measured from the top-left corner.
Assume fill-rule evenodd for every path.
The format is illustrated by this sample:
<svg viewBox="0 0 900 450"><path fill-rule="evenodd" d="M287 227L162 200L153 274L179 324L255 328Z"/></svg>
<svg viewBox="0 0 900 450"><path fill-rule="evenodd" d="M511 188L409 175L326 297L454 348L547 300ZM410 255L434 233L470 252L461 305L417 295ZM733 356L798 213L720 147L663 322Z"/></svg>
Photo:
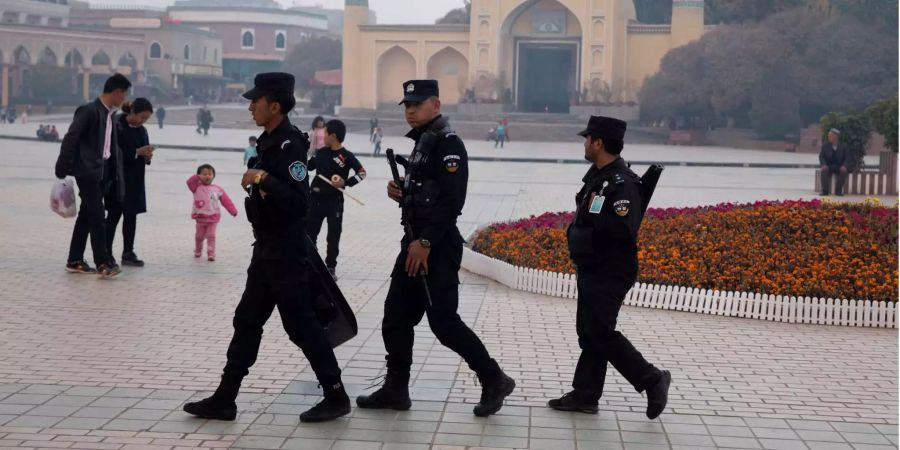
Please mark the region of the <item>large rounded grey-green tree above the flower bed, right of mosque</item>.
<svg viewBox="0 0 900 450"><path fill-rule="evenodd" d="M896 95L896 32L818 11L803 7L759 23L720 25L669 51L638 93L642 115L647 120L715 117L767 128L761 116L756 125L750 120L754 101L771 102L765 90L783 90L783 83L792 82L796 106L793 98L783 106L795 108L802 126L829 111L863 109ZM772 75L776 64L782 66L775 73L785 80ZM757 113L767 109L756 105ZM793 117L794 111L784 114Z"/></svg>

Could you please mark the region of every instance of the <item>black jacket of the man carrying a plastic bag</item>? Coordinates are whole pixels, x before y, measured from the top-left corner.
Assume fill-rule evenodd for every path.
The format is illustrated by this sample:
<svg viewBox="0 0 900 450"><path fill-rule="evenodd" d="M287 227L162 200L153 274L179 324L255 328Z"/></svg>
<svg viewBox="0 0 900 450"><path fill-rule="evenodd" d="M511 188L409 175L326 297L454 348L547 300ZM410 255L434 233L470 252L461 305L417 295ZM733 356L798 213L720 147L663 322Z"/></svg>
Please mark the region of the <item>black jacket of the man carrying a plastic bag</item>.
<svg viewBox="0 0 900 450"><path fill-rule="evenodd" d="M76 178L92 181L117 181L124 177L122 164L122 151L118 146L118 139L113 120L111 135L112 153L111 159L115 162L115 173L105 172L103 160L103 141L106 133L106 116L108 110L100 99L87 103L75 110L69 131L63 137L59 148L59 157L56 159L56 178L65 178L72 175ZM117 184L117 197L119 200L125 197L125 185Z"/></svg>

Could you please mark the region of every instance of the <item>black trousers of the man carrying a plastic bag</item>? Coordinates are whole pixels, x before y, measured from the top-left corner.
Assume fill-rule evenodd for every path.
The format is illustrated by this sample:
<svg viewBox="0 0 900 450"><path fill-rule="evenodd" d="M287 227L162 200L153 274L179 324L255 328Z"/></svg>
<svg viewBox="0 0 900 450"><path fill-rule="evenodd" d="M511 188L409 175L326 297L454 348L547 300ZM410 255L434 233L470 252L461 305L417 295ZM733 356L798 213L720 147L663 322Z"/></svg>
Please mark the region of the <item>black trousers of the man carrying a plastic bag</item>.
<svg viewBox="0 0 900 450"><path fill-rule="evenodd" d="M72 230L72 241L69 244L69 261L84 259L88 236L91 237L91 250L94 253L94 264L108 263L112 257L107 251L106 223L103 217L103 182L87 178L75 178L78 184L78 196L81 197L81 209L75 219Z"/></svg>

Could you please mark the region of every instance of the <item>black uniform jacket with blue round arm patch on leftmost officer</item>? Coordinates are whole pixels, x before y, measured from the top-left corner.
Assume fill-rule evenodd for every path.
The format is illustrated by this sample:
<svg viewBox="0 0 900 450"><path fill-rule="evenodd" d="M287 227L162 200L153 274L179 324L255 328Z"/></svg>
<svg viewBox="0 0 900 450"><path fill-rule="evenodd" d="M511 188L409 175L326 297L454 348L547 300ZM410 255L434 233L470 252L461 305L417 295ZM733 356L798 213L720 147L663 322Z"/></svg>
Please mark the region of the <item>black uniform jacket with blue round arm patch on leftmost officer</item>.
<svg viewBox="0 0 900 450"><path fill-rule="evenodd" d="M309 138L285 117L256 143L255 169L268 176L250 190L247 217L256 236L253 257L305 259L306 212L309 208Z"/></svg>

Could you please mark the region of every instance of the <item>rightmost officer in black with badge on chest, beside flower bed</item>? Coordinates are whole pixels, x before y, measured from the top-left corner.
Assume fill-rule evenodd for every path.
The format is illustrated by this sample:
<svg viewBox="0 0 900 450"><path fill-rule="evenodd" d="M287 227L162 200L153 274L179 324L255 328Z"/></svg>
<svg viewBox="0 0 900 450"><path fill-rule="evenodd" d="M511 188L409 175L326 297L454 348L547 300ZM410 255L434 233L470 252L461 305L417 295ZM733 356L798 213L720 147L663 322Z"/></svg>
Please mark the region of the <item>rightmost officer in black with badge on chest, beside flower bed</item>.
<svg viewBox="0 0 900 450"><path fill-rule="evenodd" d="M567 236L578 285L576 330L581 357L573 391L550 400L561 411L595 414L606 363L638 391L647 393L647 417L665 409L672 376L647 362L616 330L616 317L637 280L637 233L643 218L641 180L620 156L625 122L592 116L584 137L584 157L593 163L575 197L577 210Z"/></svg>

